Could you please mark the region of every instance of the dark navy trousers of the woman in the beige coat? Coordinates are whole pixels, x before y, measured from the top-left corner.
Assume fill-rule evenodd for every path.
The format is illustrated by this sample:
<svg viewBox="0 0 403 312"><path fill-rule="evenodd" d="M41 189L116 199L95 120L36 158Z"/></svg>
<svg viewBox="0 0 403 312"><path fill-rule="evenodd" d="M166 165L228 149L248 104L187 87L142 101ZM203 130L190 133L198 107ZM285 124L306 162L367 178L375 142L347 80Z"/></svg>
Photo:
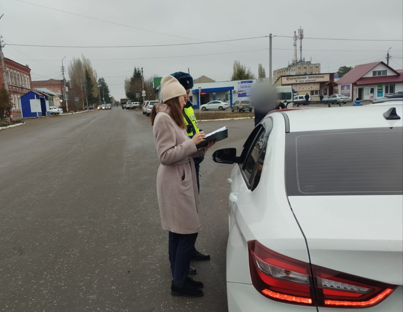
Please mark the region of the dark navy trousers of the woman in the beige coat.
<svg viewBox="0 0 403 312"><path fill-rule="evenodd" d="M189 273L190 258L198 233L178 234L169 231L169 262L171 264L174 284L178 287L185 285Z"/></svg>

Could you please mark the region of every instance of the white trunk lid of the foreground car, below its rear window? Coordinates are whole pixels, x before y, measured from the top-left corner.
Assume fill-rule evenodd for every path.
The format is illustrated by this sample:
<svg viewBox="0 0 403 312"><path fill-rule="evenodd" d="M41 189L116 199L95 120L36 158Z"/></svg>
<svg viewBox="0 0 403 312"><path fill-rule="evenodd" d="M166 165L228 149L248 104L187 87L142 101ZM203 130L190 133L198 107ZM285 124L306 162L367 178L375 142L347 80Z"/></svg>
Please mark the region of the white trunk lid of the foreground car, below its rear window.
<svg viewBox="0 0 403 312"><path fill-rule="evenodd" d="M289 196L312 264L403 285L403 196Z"/></svg>

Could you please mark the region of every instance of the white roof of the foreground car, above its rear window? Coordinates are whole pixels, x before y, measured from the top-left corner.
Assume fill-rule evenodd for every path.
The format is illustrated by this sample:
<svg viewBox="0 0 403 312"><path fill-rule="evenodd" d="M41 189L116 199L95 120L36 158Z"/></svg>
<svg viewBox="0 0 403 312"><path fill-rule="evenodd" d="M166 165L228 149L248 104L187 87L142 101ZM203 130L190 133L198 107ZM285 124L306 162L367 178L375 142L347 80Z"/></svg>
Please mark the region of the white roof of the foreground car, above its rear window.
<svg viewBox="0 0 403 312"><path fill-rule="evenodd" d="M403 126L403 105L395 102L382 104L287 110L284 114L288 117L290 132ZM401 119L386 120L383 114L392 107L395 107ZM279 118L281 113L279 111L270 115Z"/></svg>

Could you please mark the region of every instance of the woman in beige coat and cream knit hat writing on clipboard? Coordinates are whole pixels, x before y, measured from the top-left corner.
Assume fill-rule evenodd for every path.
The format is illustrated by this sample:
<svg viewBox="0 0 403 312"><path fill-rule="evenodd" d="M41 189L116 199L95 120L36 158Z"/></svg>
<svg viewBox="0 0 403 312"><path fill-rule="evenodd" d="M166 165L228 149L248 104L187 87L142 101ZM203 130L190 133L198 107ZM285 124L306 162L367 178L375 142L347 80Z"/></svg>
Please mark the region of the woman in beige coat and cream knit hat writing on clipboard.
<svg viewBox="0 0 403 312"><path fill-rule="evenodd" d="M164 103L154 105L151 113L154 143L161 165L157 174L157 196L162 229L169 231L169 261L172 271L172 295L199 297L202 282L187 276L191 251L197 233L203 228L199 216L199 193L192 157L203 156L214 143L198 151L204 132L189 138L182 109L186 104L185 88L171 75L161 80Z"/></svg>

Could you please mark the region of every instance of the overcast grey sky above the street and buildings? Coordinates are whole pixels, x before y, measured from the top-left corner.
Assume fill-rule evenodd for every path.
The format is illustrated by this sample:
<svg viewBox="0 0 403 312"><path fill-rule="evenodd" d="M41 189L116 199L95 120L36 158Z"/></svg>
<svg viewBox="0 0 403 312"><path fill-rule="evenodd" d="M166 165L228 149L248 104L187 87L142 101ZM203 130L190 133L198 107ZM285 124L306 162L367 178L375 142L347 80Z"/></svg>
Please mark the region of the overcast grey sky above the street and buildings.
<svg viewBox="0 0 403 312"><path fill-rule="evenodd" d="M321 63L322 73L335 72L343 65L385 60L388 48L392 56L389 65L400 69L402 12L402 0L1 0L0 15L4 16L0 34L6 44L4 56L28 64L32 80L60 79L62 58L66 56L63 62L67 67L73 57L82 53L119 100L125 97L125 77L131 76L135 66L143 67L145 77L187 72L189 68L193 78L206 75L224 81L231 76L233 62L239 60L256 74L262 63L268 76L269 38L152 48L45 48L7 43L164 45L261 37L269 33L292 37L301 26L305 36L303 57ZM379 41L385 39L399 41ZM299 58L299 41L297 45ZM272 47L273 70L292 61L292 38L274 37Z"/></svg>

